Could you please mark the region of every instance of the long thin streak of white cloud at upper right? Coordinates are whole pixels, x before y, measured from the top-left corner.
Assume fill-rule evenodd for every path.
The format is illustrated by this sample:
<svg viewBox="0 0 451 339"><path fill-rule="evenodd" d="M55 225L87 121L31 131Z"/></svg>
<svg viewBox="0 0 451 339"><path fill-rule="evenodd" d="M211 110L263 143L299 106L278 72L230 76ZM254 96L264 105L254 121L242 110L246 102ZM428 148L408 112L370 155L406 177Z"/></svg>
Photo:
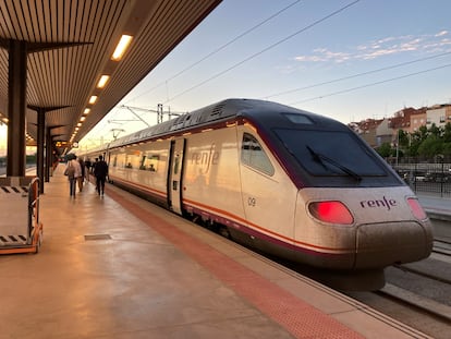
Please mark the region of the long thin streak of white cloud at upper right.
<svg viewBox="0 0 451 339"><path fill-rule="evenodd" d="M351 60L370 60L411 51L440 52L451 45L449 32L441 31L434 35L390 36L358 45L349 51L332 51L328 48L316 48L310 55L296 56L298 62L334 62Z"/></svg>

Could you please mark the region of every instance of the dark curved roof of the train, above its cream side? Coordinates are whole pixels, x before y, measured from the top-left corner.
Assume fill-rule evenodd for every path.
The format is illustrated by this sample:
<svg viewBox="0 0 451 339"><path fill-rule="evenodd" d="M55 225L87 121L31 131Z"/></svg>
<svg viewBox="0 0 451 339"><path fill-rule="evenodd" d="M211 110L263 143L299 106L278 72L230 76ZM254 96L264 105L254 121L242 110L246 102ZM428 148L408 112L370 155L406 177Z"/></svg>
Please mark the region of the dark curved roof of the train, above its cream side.
<svg viewBox="0 0 451 339"><path fill-rule="evenodd" d="M283 113L302 113L315 122L316 125L321 125L322 128L330 124L333 124L337 128L338 124L341 124L332 119L278 102L257 99L226 99L112 141L109 144L109 147L113 148L138 143L149 138L164 136L171 132L208 125L214 122L235 119L237 117L248 117L251 119L258 117L258 119L276 121L275 119L278 119L279 116L275 117L275 111Z"/></svg>

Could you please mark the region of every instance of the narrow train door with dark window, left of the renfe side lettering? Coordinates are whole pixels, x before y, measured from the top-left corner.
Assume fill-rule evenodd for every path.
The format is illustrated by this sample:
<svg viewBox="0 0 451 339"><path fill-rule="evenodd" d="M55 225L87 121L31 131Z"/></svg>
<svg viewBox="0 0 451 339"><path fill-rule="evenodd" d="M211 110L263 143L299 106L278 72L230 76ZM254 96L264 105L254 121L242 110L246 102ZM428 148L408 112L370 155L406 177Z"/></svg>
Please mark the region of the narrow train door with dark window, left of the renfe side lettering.
<svg viewBox="0 0 451 339"><path fill-rule="evenodd" d="M184 153L184 138L179 138L171 142L168 173L168 203L169 207L180 215L182 214L182 178Z"/></svg>

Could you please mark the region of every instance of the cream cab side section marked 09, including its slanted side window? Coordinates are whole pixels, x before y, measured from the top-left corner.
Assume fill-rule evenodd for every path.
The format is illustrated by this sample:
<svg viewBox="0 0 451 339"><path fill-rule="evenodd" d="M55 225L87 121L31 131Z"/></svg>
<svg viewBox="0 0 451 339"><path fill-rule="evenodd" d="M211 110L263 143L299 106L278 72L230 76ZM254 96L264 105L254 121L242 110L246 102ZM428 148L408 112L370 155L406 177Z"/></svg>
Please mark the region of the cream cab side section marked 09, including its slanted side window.
<svg viewBox="0 0 451 339"><path fill-rule="evenodd" d="M294 241L297 189L253 126L240 125L237 135L248 242L283 256Z"/></svg>

